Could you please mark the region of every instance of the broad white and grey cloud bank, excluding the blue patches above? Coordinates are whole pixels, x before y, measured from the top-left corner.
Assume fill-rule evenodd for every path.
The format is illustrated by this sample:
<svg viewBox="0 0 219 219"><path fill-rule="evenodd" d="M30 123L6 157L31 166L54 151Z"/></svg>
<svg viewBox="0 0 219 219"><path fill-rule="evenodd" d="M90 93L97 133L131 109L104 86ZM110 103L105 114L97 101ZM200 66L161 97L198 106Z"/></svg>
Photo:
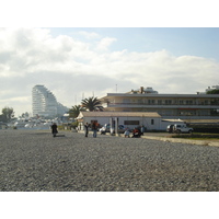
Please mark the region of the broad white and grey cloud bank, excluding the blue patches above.
<svg viewBox="0 0 219 219"><path fill-rule="evenodd" d="M218 83L215 60L175 57L166 50L111 51L114 42L110 37L97 44L67 35L53 37L45 28L0 28L0 110L31 112L35 84L46 85L70 107L82 96L115 92L116 84L118 92L143 85L160 93L195 93Z"/></svg>

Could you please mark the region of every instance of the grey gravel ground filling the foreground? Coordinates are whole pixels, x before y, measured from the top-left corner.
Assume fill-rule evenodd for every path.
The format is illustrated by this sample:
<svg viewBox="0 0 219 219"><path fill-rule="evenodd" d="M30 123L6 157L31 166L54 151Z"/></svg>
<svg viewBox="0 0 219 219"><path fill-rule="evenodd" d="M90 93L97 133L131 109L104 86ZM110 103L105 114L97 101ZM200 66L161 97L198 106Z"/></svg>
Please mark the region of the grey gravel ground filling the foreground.
<svg viewBox="0 0 219 219"><path fill-rule="evenodd" d="M0 130L0 191L219 191L219 148L49 130Z"/></svg>

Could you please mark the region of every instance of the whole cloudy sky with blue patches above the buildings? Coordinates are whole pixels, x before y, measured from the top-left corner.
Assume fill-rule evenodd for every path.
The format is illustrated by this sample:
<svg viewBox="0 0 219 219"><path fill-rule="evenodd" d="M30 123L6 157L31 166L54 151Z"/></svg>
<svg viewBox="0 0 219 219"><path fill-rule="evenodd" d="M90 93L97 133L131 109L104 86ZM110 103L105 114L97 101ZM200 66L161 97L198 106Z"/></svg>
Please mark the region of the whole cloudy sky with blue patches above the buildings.
<svg viewBox="0 0 219 219"><path fill-rule="evenodd" d="M218 38L218 27L2 27L0 108L31 113L36 84L68 107L140 87L203 92L219 83Z"/></svg>

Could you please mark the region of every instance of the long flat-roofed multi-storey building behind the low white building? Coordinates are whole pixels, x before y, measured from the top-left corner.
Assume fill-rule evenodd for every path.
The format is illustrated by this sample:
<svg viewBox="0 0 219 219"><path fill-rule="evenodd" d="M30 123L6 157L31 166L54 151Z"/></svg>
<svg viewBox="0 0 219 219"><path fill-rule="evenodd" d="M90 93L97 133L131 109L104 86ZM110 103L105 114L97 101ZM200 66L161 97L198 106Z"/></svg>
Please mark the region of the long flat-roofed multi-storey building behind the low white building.
<svg viewBox="0 0 219 219"><path fill-rule="evenodd" d="M219 94L160 94L152 88L107 93L100 99L104 111L157 112L163 118L219 117Z"/></svg>

